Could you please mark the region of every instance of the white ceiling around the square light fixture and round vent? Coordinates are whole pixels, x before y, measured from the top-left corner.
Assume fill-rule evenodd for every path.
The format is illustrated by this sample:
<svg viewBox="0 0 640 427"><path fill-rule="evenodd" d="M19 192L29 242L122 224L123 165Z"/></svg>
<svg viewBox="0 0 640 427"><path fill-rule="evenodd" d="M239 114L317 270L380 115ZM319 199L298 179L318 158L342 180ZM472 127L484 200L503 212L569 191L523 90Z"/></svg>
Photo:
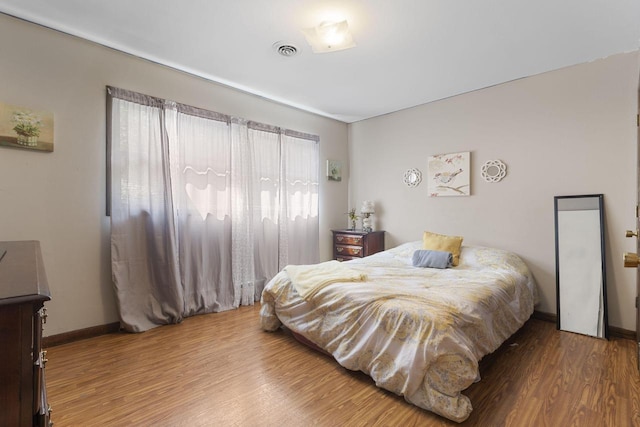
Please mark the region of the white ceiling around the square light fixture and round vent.
<svg viewBox="0 0 640 427"><path fill-rule="evenodd" d="M640 46L639 0L0 0L0 12L347 123ZM312 53L301 29L339 19L357 47ZM279 56L282 40L300 53Z"/></svg>

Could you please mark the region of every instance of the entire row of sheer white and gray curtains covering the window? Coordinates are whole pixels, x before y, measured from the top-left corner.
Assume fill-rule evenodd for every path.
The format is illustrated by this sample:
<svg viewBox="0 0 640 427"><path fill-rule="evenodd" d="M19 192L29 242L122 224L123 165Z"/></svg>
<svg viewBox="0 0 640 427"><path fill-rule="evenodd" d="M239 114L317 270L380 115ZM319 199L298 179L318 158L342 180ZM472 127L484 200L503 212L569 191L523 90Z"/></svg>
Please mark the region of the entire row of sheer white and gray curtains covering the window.
<svg viewBox="0 0 640 427"><path fill-rule="evenodd" d="M109 88L112 265L123 326L259 300L318 257L318 138Z"/></svg>

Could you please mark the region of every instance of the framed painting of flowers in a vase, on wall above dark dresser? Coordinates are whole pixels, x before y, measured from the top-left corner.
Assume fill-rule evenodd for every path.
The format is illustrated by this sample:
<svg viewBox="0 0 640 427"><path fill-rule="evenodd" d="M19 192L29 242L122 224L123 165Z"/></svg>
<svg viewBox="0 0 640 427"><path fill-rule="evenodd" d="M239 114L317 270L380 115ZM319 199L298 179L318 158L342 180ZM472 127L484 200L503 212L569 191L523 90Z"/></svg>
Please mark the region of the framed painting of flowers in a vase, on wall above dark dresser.
<svg viewBox="0 0 640 427"><path fill-rule="evenodd" d="M53 151L53 113L0 102L0 147Z"/></svg>

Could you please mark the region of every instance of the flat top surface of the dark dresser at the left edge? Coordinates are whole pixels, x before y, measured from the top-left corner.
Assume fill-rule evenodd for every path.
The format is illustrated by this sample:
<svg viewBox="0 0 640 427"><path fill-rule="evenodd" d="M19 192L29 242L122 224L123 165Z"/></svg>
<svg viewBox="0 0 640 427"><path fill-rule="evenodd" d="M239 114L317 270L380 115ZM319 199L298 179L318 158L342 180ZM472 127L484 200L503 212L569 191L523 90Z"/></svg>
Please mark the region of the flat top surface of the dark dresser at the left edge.
<svg viewBox="0 0 640 427"><path fill-rule="evenodd" d="M0 305L51 299L40 242L0 242Z"/></svg>

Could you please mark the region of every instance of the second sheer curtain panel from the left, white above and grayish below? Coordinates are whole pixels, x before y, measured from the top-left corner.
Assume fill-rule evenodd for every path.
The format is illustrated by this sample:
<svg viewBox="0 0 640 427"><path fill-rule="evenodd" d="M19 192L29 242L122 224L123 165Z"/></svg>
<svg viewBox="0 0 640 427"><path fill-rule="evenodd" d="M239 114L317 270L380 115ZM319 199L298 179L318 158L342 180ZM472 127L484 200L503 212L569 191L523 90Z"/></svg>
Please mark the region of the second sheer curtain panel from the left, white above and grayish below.
<svg viewBox="0 0 640 427"><path fill-rule="evenodd" d="M178 104L170 138L184 315L237 307L228 118Z"/></svg>

